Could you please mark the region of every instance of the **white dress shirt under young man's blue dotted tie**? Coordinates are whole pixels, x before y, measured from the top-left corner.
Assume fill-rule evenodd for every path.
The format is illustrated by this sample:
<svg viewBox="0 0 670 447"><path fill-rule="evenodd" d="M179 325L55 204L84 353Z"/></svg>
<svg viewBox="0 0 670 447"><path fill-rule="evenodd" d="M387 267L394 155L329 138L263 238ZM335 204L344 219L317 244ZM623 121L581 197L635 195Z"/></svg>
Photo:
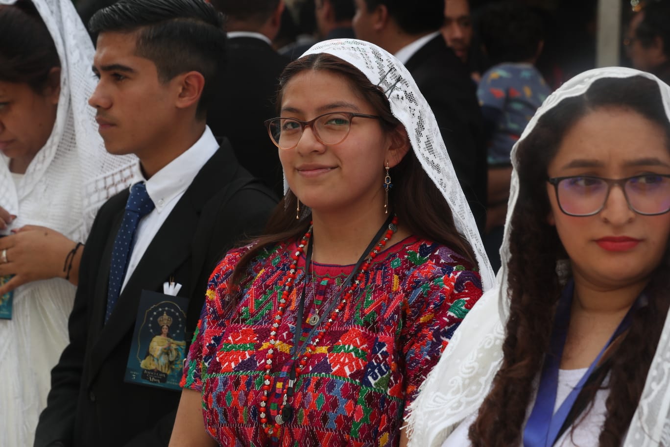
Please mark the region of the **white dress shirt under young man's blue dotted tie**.
<svg viewBox="0 0 670 447"><path fill-rule="evenodd" d="M147 194L149 194L155 208L144 216L137 225L121 292L123 292L128 279L133 275L133 271L135 271L137 264L139 264L163 222L170 215L179 199L182 198L202 166L214 155L216 149L218 149L218 143L210 128L206 127L202 136L194 145L163 169L153 174L149 180L146 180L144 174L142 174L139 162L133 167L133 184L145 182ZM184 236L188 237L188 235Z"/></svg>

